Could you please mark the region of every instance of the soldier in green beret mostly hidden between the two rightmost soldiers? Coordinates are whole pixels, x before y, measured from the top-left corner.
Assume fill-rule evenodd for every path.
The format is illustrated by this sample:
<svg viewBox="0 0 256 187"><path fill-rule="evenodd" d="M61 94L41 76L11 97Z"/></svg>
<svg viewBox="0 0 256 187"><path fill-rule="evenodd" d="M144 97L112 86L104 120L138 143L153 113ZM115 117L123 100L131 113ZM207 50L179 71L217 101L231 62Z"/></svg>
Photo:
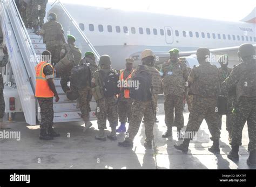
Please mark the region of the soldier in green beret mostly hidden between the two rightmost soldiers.
<svg viewBox="0 0 256 187"><path fill-rule="evenodd" d="M228 56L225 54L218 59L218 63L220 63L219 72L220 72L220 83L224 82L224 80L230 75L232 68L227 67L228 65ZM227 94L227 117L226 117L226 130L228 131L228 140L231 143L232 140L232 127L234 121L234 115L232 113L233 108L235 106L235 86L231 91ZM219 115L219 127L221 129L222 123L222 115Z"/></svg>

